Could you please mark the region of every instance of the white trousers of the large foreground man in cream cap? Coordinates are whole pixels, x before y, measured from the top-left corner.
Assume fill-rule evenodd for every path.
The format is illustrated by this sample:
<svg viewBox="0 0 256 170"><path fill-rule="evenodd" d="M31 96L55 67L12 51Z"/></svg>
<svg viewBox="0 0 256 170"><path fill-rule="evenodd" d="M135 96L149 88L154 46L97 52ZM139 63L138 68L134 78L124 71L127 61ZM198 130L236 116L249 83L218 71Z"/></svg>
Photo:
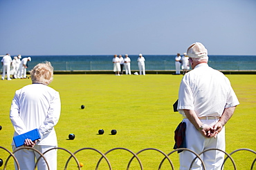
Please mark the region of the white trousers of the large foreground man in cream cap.
<svg viewBox="0 0 256 170"><path fill-rule="evenodd" d="M183 119L186 123L186 144L187 148L195 151L197 154L201 153L205 149L221 149L225 151L226 144L225 144L225 127L221 130L218 134L217 138L205 138L201 135L199 131L190 123L190 120L187 118ZM206 125L214 125L218 120L201 120L203 124ZM205 164L205 169L207 170L221 170L221 166L224 161L225 153L217 150L206 151L200 157ZM188 170L190 168L190 164L192 160L196 156L194 153L190 151L183 151L179 153L180 157L180 169L181 170ZM197 158L192 166L193 170L202 170L203 167L201 166L201 161Z"/></svg>

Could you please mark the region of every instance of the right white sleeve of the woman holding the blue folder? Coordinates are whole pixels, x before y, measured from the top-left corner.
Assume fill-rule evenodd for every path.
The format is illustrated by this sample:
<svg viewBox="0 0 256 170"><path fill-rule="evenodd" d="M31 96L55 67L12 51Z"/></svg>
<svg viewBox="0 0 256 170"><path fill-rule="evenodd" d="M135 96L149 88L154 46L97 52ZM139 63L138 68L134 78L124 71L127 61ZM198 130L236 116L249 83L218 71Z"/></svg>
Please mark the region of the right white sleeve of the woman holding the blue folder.
<svg viewBox="0 0 256 170"><path fill-rule="evenodd" d="M51 102L50 108L48 109L46 119L44 123L39 127L39 134L42 140L46 134L51 132L53 127L57 124L60 119L61 102L59 92L55 92Z"/></svg>

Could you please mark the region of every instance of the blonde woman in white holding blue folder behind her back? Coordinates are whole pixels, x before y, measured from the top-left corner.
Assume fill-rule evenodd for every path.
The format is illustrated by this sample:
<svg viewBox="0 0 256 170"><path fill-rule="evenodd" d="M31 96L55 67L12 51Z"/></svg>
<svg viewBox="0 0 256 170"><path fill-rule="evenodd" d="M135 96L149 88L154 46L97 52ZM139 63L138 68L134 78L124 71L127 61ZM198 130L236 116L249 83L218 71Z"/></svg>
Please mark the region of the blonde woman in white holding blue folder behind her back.
<svg viewBox="0 0 256 170"><path fill-rule="evenodd" d="M26 139L25 147L34 147L41 153L57 147L55 125L60 118L60 94L55 89L48 87L53 81L53 66L50 62L37 64L30 72L32 85L26 85L15 92L10 108L10 120L15 129L14 136L24 134L33 129L39 130L41 138L32 141ZM14 142L12 149L15 151ZM15 152L20 169L33 170L35 158L39 154L32 149L21 149ZM57 149L44 154L51 170L57 169ZM37 169L46 170L48 166L43 158L39 159ZM17 169L17 166L15 166Z"/></svg>

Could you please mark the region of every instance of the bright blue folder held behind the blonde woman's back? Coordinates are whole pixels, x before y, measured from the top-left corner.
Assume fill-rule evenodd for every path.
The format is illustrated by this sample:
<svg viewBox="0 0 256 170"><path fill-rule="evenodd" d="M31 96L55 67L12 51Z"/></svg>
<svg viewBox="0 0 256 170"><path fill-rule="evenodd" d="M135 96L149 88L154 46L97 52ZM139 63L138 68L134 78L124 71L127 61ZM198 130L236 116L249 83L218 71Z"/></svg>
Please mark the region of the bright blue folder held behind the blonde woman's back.
<svg viewBox="0 0 256 170"><path fill-rule="evenodd" d="M20 146L24 145L24 142L27 138L32 141L39 139L40 134L39 134L38 129L33 129L32 131L28 131L25 134L21 134L21 135L13 137L15 146L20 147Z"/></svg>

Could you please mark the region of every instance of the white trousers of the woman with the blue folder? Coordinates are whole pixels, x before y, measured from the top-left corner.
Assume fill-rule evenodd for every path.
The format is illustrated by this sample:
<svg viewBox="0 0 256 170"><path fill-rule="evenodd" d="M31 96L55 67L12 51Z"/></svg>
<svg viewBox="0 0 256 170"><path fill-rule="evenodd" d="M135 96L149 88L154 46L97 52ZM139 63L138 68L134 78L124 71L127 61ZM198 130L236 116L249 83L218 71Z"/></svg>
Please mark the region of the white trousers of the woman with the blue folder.
<svg viewBox="0 0 256 170"><path fill-rule="evenodd" d="M53 146L45 146L45 145L35 145L34 147L39 152L44 153L48 149L53 148ZM13 151L15 151L16 147L12 146ZM21 149L15 152L15 157L19 162L19 166L21 170L34 170L35 162L37 158L39 158L39 154L32 149ZM44 154L46 161L48 162L50 170L57 170L57 149L53 149ZM18 170L17 165L15 163L15 169ZM38 170L48 170L47 164L44 161L44 158L40 158L37 164Z"/></svg>

